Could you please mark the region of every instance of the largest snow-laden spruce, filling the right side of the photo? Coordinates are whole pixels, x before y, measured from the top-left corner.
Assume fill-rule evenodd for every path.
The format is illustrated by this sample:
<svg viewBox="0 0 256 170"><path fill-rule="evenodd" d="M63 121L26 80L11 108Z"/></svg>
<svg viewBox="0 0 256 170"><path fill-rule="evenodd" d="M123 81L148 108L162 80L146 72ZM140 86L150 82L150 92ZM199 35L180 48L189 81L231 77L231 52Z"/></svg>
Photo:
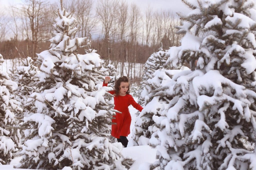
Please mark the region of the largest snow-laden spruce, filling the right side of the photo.
<svg viewBox="0 0 256 170"><path fill-rule="evenodd" d="M188 62L173 76L169 107L150 139L161 169L256 169L256 10L251 0L185 1L166 63ZM196 66L194 66L197 61ZM159 93L163 93L159 91Z"/></svg>

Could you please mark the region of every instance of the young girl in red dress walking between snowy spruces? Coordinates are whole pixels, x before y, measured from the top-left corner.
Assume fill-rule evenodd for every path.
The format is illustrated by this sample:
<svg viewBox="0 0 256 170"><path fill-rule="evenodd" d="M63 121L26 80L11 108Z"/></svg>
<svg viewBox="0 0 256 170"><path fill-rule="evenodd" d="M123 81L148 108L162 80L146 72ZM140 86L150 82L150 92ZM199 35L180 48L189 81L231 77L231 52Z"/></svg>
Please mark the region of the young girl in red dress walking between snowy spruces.
<svg viewBox="0 0 256 170"><path fill-rule="evenodd" d="M110 77L105 77L105 82L103 86L108 86ZM130 125L131 125L131 114L129 112L128 106L132 105L138 111L142 111L140 104L136 103L130 93L130 83L129 79L126 76L120 77L118 80L115 80L114 90L109 91L114 95L114 104L115 110L118 110L122 113L116 113L112 119L112 130L111 135L117 138L118 142L121 142L126 148L128 139L126 136L130 134Z"/></svg>

